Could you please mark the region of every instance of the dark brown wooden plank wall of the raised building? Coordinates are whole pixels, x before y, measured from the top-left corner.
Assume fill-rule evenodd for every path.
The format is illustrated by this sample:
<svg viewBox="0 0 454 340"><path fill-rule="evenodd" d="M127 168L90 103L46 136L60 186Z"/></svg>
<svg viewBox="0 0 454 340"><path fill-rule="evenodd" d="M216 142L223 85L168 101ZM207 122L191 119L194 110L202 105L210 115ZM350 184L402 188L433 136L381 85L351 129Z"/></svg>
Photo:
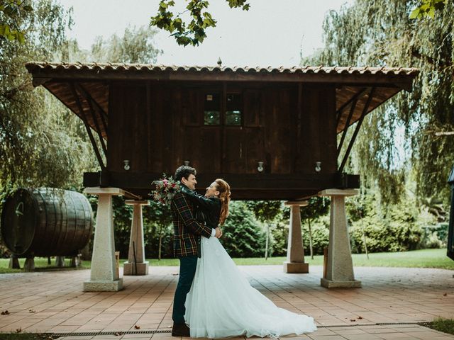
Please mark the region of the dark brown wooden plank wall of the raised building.
<svg viewBox="0 0 454 340"><path fill-rule="evenodd" d="M206 174L258 174L258 162L265 174L315 174L315 162L336 173L334 87L228 84L243 94L243 125L223 126L204 125L207 91L223 94L211 85L111 84L109 171L129 159L133 173L173 174L186 160Z"/></svg>

